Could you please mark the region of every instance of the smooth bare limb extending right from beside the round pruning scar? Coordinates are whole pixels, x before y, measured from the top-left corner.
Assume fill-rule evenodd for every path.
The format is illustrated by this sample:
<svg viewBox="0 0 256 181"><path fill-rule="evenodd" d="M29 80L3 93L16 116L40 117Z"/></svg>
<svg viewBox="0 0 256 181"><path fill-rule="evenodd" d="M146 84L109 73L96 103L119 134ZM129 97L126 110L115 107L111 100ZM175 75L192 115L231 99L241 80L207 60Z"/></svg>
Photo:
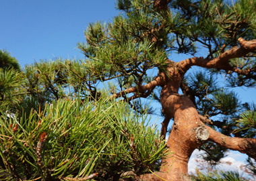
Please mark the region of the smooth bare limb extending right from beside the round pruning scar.
<svg viewBox="0 0 256 181"><path fill-rule="evenodd" d="M215 131L211 127L205 125L205 128L210 133L209 141L217 143L220 146L228 149L239 151L243 154L247 154L249 157L256 159L256 139L255 138L239 138L228 137Z"/></svg>

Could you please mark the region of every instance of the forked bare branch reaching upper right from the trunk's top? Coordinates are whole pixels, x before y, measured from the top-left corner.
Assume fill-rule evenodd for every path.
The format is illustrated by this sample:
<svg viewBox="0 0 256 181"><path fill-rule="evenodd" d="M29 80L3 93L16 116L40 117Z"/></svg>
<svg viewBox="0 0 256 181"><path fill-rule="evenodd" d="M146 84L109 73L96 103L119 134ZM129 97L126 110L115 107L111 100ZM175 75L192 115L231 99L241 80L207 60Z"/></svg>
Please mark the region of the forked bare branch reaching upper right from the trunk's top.
<svg viewBox="0 0 256 181"><path fill-rule="evenodd" d="M251 70L241 70L229 64L229 60L232 58L241 58L243 56L247 56L250 52L254 52L256 50L256 40L246 41L243 38L239 38L238 42L240 47L230 48L222 54L214 59L208 59L203 57L193 57L187 58L179 62L179 66L183 71L189 70L191 66L201 66L203 68L220 68L223 70L231 70L237 72L238 74L247 75Z"/></svg>

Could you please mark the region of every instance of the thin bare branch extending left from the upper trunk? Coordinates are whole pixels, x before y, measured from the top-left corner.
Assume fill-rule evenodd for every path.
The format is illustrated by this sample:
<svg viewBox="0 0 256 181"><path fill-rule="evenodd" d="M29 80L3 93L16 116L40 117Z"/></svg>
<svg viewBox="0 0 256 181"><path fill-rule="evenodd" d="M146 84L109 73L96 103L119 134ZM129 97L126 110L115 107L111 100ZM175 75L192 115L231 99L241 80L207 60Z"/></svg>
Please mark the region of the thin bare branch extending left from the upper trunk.
<svg viewBox="0 0 256 181"><path fill-rule="evenodd" d="M133 95L131 98L136 99L138 97L148 97L150 95L150 93L152 93L152 91L154 90L154 88L156 86L160 86L162 84L164 84L164 80L165 80L165 75L164 73L161 73L160 75L156 76L156 78L154 80L152 80L151 82L149 82L146 85L139 85L137 87L133 86L131 88L127 88L124 91L121 91L115 95L112 95L110 97L110 99L118 98L118 97L122 97L123 95L127 95L129 93L140 93L141 96L139 95ZM129 98L130 99L130 98Z"/></svg>

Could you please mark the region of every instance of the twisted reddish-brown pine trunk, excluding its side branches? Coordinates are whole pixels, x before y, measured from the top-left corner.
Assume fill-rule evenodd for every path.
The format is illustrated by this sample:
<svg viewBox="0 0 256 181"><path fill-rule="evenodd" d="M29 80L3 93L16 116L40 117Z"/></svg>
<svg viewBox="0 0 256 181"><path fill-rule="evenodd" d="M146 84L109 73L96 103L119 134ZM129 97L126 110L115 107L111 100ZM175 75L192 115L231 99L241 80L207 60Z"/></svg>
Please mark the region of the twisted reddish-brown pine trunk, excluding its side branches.
<svg viewBox="0 0 256 181"><path fill-rule="evenodd" d="M183 74L177 68L168 70L170 78L162 87L162 112L166 116L162 123L162 135L165 135L170 118L174 118L167 146L170 158L163 160L163 166L156 175L144 176L143 180L190 180L187 176L188 162L193 151L209 138L209 133L199 119L197 109L185 95L179 95L179 86Z"/></svg>

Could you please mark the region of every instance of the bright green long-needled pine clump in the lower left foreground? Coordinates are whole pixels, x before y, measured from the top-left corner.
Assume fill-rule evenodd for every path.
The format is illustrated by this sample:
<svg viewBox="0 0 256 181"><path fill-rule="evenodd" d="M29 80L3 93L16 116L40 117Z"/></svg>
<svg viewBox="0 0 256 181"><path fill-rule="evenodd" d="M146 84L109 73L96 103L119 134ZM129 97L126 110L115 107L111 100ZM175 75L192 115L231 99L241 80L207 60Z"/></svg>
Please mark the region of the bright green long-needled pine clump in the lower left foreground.
<svg viewBox="0 0 256 181"><path fill-rule="evenodd" d="M123 102L59 99L30 115L0 117L1 176L5 180L117 180L158 170L165 141L146 115Z"/></svg>

